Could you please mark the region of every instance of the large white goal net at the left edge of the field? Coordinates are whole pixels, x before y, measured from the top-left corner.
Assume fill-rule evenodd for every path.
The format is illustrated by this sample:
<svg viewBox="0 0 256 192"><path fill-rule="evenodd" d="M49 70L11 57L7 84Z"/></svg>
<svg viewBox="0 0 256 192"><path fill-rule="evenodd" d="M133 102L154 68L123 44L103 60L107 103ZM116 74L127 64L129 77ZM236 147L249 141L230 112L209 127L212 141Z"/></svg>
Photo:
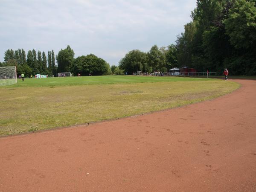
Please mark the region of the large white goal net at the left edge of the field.
<svg viewBox="0 0 256 192"><path fill-rule="evenodd" d="M17 83L16 67L0 67L0 86Z"/></svg>

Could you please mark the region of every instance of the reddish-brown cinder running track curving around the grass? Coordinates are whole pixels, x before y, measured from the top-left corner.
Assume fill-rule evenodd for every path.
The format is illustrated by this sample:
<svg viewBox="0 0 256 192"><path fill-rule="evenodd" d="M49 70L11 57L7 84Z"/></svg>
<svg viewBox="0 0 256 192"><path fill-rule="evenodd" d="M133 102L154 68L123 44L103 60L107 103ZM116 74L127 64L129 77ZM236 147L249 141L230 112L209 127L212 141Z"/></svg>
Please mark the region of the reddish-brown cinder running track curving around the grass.
<svg viewBox="0 0 256 192"><path fill-rule="evenodd" d="M2 137L0 191L256 191L256 81L236 81L181 108Z"/></svg>

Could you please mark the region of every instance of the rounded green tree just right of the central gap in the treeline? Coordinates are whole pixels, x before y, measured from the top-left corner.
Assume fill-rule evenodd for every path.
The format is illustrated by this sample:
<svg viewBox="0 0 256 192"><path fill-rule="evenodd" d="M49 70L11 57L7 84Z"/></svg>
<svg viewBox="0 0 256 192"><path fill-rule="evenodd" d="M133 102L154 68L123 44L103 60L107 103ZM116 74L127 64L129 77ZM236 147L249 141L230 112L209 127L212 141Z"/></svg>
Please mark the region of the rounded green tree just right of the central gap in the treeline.
<svg viewBox="0 0 256 192"><path fill-rule="evenodd" d="M119 69L124 70L128 74L137 71L150 72L147 54L138 49L129 51L125 57L119 61Z"/></svg>

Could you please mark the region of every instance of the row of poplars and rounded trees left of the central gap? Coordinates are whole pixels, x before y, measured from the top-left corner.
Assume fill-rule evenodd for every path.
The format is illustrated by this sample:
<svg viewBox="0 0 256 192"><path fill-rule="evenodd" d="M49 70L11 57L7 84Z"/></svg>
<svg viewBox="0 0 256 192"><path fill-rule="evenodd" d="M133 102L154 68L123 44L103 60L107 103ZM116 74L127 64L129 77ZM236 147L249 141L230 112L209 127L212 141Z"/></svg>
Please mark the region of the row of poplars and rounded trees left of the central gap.
<svg viewBox="0 0 256 192"><path fill-rule="evenodd" d="M35 49L29 50L27 54L24 49L8 49L4 54L4 62L0 62L0 67L16 66L17 75L24 73L26 77L36 74L57 76L58 73L64 72L73 73L74 76L78 73L82 76L112 73L110 65L96 55L82 55L77 58L74 58L74 55L69 45L61 49L56 56L53 50L48 51L46 55L44 51L36 52Z"/></svg>

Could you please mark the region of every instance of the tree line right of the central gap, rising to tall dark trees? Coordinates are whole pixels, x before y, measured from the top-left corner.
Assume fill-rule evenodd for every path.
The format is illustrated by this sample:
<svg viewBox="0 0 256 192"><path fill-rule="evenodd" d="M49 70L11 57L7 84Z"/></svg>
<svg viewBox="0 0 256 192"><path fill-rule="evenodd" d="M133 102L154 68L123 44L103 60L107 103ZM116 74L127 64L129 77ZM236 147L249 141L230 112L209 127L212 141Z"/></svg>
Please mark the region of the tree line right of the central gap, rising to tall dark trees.
<svg viewBox="0 0 256 192"><path fill-rule="evenodd" d="M134 49L119 61L119 68L166 72L173 67L195 68L221 74L256 75L255 0L197 0L192 21L175 44L149 52Z"/></svg>

